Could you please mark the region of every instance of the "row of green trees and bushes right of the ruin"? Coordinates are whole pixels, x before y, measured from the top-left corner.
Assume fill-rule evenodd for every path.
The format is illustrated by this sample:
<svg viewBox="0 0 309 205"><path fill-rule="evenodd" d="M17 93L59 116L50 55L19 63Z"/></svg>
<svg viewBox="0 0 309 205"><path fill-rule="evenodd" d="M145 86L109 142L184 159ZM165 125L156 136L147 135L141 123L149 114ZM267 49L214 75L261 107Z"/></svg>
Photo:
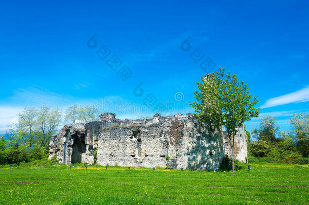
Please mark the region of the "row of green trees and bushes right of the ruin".
<svg viewBox="0 0 309 205"><path fill-rule="evenodd" d="M290 130L280 132L274 117L262 117L260 126L251 133L257 141L250 141L247 132L249 156L259 158L251 161L308 163L309 113L293 114L290 124Z"/></svg>

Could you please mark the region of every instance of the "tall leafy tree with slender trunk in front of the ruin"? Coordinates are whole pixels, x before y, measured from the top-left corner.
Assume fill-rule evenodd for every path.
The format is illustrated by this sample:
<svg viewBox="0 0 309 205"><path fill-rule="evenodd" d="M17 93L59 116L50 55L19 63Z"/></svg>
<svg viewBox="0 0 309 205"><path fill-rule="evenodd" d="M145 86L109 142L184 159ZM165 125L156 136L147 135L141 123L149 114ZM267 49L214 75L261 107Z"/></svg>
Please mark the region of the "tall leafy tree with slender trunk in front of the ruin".
<svg viewBox="0 0 309 205"><path fill-rule="evenodd" d="M254 106L258 102L255 96L253 101L249 88L244 81L238 81L235 74L230 71L225 74L224 68L219 68L216 73L201 77L198 82L195 98L198 102L191 103L195 108L196 116L218 128L223 126L227 131L229 144L232 151L232 167L235 172L234 145L237 128L252 117L257 117L259 108Z"/></svg>

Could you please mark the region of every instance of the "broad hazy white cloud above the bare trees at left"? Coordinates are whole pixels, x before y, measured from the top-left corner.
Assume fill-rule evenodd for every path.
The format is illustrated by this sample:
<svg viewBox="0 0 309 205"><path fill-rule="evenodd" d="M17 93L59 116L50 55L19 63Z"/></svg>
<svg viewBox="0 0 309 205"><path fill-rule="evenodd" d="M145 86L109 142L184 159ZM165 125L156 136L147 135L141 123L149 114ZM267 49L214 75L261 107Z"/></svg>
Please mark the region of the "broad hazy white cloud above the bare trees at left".
<svg viewBox="0 0 309 205"><path fill-rule="evenodd" d="M24 107L60 107L63 111L70 105L93 105L96 104L102 112L107 110L108 105L118 102L127 103L120 96L106 96L104 98L78 98L69 95L60 95L43 88L28 87L14 91L12 97L0 102L0 134L6 133L10 124L17 122L18 113Z"/></svg>

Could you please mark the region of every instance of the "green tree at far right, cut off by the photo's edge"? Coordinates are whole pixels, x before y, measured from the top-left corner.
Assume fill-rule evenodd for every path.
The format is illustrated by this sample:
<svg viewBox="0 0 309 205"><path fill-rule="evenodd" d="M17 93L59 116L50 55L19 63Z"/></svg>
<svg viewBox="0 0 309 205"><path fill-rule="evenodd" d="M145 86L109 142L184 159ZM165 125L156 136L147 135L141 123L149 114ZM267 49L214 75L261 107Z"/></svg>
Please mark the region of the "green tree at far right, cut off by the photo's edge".
<svg viewBox="0 0 309 205"><path fill-rule="evenodd" d="M297 149L303 157L309 155L309 113L294 113L291 117L292 132Z"/></svg>

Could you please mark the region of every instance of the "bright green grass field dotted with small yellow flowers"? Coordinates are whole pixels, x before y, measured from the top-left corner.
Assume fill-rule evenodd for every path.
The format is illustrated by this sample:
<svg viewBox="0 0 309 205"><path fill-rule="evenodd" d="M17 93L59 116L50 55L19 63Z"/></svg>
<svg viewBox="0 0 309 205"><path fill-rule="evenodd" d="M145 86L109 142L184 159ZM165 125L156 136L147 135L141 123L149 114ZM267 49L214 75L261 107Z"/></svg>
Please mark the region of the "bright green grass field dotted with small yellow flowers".
<svg viewBox="0 0 309 205"><path fill-rule="evenodd" d="M197 172L66 166L0 169L1 204L309 204L309 167Z"/></svg>

